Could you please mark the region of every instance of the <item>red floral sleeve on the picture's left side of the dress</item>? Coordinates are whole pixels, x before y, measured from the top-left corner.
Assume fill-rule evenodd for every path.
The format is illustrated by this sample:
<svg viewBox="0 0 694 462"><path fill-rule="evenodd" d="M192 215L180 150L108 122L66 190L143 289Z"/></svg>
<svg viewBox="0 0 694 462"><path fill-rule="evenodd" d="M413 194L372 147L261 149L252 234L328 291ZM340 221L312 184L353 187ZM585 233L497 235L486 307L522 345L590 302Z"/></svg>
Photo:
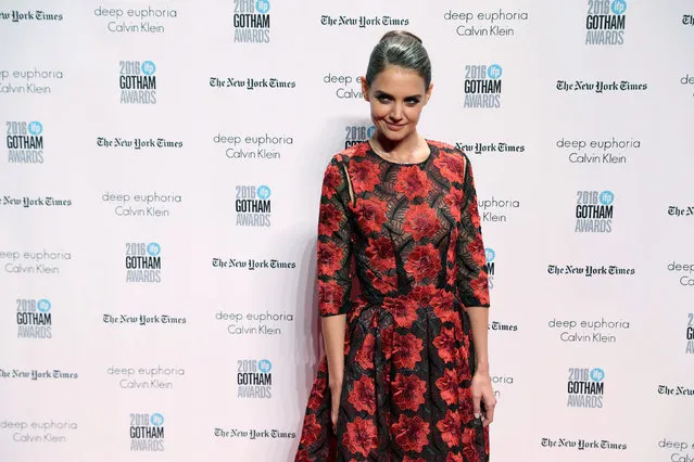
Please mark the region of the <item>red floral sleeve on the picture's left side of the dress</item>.
<svg viewBox="0 0 694 462"><path fill-rule="evenodd" d="M318 213L317 279L320 316L345 315L352 288L350 190L342 163L333 157L325 170Z"/></svg>

